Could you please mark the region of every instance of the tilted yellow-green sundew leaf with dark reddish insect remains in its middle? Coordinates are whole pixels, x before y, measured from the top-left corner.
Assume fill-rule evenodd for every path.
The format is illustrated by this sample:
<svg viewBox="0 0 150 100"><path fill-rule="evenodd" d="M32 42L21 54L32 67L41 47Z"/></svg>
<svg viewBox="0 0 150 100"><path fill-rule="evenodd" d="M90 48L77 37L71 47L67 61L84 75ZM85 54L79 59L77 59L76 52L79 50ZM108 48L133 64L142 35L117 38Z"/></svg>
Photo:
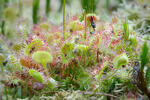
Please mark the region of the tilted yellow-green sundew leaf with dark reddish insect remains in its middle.
<svg viewBox="0 0 150 100"><path fill-rule="evenodd" d="M33 40L30 44L27 45L25 49L25 55L28 56L34 51L37 51L42 46L42 41L40 39Z"/></svg>

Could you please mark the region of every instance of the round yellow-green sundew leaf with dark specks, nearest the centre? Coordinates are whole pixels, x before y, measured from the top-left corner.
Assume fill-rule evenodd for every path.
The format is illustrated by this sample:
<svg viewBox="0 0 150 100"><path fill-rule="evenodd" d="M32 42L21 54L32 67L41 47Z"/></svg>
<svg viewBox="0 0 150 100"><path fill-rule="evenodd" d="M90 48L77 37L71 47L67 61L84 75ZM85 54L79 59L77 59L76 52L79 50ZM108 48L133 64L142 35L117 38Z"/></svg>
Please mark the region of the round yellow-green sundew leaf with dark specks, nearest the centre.
<svg viewBox="0 0 150 100"><path fill-rule="evenodd" d="M63 63L69 63L69 61L74 57L74 44L65 43L61 48L61 59Z"/></svg>

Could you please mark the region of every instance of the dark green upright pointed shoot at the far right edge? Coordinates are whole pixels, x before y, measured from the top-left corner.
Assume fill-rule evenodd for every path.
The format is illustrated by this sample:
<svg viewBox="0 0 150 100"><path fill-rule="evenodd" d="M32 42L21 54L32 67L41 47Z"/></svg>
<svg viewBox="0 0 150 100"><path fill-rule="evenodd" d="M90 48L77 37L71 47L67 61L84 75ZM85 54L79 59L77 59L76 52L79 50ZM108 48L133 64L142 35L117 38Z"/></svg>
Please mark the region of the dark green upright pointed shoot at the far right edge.
<svg viewBox="0 0 150 100"><path fill-rule="evenodd" d="M149 51L148 51L148 45L147 42L145 42L142 46L142 52L140 56L141 60L141 68L144 69L144 66L148 63L149 61Z"/></svg>

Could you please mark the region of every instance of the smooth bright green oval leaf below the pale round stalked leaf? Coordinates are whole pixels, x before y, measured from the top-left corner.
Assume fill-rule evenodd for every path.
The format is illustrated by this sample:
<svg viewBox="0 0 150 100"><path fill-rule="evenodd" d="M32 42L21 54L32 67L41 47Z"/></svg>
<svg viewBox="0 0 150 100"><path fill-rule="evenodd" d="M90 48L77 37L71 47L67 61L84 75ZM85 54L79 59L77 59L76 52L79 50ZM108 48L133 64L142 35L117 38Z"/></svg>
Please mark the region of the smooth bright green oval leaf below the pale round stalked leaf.
<svg viewBox="0 0 150 100"><path fill-rule="evenodd" d="M34 69L30 69L29 70L29 74L30 76L32 76L36 81L43 83L43 77L41 75L40 72L34 70Z"/></svg>

